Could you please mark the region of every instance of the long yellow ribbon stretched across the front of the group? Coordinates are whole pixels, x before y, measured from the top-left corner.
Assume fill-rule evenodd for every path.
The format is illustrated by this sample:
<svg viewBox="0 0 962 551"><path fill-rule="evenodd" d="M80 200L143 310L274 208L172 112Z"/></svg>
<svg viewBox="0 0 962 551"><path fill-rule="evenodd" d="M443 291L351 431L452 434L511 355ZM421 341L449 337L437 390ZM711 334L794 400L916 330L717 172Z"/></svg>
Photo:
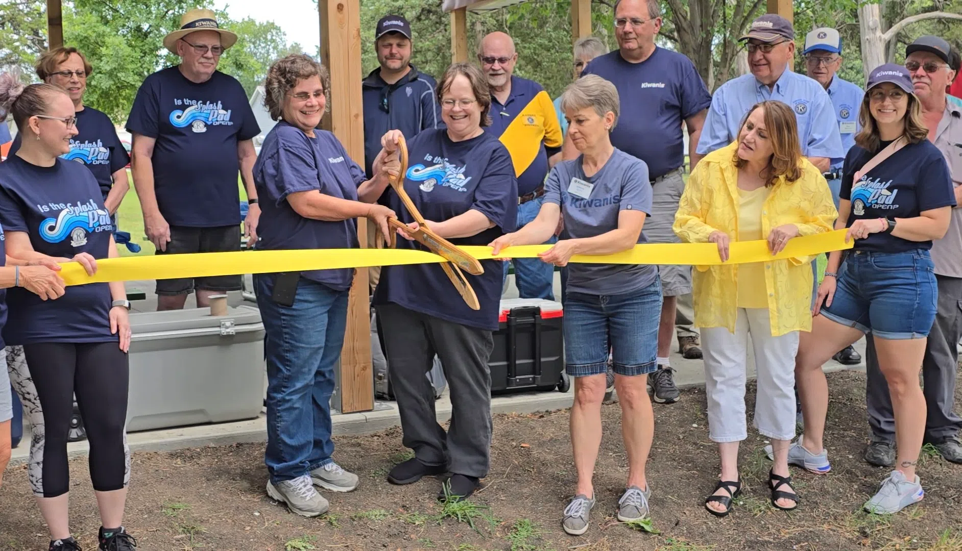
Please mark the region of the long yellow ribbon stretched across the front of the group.
<svg viewBox="0 0 962 551"><path fill-rule="evenodd" d="M725 263L764 263L849 249L846 230L793 238L785 250L772 255L768 242L735 241ZM502 251L497 258L537 258L552 245L520 245ZM461 247L478 260L491 260L491 247ZM289 251L238 251L122 257L97 261L97 273L87 275L78 263L63 263L61 276L66 285L150 279L195 278L220 275L307 271L333 268L361 268L418 263L443 263L434 253L404 249L309 249ZM613 255L575 255L571 263L605 264L721 264L715 243L646 243Z"/></svg>

